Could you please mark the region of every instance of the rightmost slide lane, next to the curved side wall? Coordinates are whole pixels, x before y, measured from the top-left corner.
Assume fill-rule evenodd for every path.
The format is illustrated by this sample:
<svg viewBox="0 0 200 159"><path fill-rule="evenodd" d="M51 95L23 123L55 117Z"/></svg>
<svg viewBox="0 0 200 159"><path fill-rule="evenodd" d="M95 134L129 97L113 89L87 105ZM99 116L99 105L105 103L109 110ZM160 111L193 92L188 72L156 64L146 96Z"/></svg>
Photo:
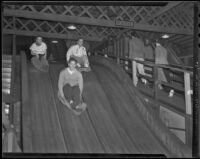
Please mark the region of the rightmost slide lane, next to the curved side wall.
<svg viewBox="0 0 200 159"><path fill-rule="evenodd" d="M136 145L137 151L169 156L169 152L153 136L146 123L139 116L139 112L134 106L136 103L131 100L113 74L100 66L94 66L93 70L111 103L111 107L105 107L106 111L114 114L113 120L116 120L120 127L126 131L131 141Z"/></svg>

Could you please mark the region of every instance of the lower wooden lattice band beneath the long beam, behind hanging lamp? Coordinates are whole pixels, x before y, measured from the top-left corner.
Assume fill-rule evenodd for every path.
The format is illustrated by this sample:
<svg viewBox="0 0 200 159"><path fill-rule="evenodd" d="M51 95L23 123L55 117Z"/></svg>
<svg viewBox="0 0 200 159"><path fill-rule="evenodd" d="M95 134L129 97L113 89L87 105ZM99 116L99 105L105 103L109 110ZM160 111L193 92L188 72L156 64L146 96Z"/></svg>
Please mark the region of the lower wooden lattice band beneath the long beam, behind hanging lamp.
<svg viewBox="0 0 200 159"><path fill-rule="evenodd" d="M71 31L67 29L68 25L69 23L65 22L44 21L11 16L3 17L3 29L15 29L18 31L37 31L73 35L77 37L96 37L101 39L110 35L116 36L121 30L120 28L77 24L77 29Z"/></svg>

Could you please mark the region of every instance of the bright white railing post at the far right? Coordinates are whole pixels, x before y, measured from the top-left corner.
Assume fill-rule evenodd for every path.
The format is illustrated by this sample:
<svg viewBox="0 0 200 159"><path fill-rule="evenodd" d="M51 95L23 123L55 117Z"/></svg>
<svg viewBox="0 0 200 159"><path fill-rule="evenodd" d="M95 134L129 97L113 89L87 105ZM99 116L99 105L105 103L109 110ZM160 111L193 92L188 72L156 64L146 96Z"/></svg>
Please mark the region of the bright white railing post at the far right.
<svg viewBox="0 0 200 159"><path fill-rule="evenodd" d="M191 103L191 89L190 89L190 73L184 72L184 88L185 88L185 106L186 114L192 114L192 103Z"/></svg>

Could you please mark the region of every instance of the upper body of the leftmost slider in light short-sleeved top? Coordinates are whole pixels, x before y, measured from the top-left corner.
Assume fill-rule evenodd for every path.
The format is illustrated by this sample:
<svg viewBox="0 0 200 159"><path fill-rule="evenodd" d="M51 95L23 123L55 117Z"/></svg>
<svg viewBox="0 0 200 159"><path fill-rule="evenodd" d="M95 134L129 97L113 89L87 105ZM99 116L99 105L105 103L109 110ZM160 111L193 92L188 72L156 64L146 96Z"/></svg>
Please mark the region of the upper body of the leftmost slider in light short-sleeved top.
<svg viewBox="0 0 200 159"><path fill-rule="evenodd" d="M42 37L37 37L36 41L30 47L31 55L36 56L41 60L42 57L46 59L47 45L42 41Z"/></svg>

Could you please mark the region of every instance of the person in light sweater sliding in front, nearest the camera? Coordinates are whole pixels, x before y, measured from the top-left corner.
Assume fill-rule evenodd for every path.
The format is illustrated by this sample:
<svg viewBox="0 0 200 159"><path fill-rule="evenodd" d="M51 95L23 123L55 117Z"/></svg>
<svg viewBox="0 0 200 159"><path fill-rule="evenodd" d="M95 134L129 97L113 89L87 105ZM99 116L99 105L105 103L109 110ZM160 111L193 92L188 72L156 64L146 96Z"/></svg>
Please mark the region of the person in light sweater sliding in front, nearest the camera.
<svg viewBox="0 0 200 159"><path fill-rule="evenodd" d="M62 70L58 80L58 98L76 115L80 115L86 104L82 101L83 77L76 69L77 61L70 58L67 68Z"/></svg>

